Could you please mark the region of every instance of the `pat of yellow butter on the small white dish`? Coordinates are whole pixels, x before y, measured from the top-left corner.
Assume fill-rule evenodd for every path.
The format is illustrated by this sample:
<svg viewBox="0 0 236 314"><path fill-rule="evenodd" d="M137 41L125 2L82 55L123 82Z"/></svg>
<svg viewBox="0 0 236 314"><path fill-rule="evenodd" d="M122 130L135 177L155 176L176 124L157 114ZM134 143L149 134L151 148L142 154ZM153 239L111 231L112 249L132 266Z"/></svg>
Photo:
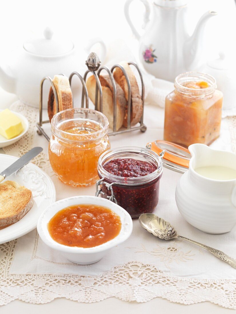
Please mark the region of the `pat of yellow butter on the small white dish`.
<svg viewBox="0 0 236 314"><path fill-rule="evenodd" d="M0 134L7 139L14 138L23 131L23 125L18 116L9 109L0 112Z"/></svg>

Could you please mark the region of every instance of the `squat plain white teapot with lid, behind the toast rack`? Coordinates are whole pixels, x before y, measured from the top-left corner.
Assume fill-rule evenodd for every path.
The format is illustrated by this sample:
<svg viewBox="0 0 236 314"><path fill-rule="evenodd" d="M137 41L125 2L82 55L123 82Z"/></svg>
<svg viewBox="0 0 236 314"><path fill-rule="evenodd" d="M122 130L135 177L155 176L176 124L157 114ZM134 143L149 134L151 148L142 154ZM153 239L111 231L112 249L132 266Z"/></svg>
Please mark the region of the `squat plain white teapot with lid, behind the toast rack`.
<svg viewBox="0 0 236 314"><path fill-rule="evenodd" d="M8 66L0 67L0 85L9 93L16 94L24 103L38 107L40 82L44 76L53 78L55 74L63 73L69 76L71 72L80 72L83 76L87 67L85 61L90 48L101 44L100 59L104 61L106 47L100 38L91 39L86 51L76 51L73 42L67 38L54 39L51 29L44 30L44 38L26 41L20 50L14 51ZM82 89L76 84L74 96ZM49 84L43 90L43 107L47 106ZM80 106L80 104L79 104Z"/></svg>

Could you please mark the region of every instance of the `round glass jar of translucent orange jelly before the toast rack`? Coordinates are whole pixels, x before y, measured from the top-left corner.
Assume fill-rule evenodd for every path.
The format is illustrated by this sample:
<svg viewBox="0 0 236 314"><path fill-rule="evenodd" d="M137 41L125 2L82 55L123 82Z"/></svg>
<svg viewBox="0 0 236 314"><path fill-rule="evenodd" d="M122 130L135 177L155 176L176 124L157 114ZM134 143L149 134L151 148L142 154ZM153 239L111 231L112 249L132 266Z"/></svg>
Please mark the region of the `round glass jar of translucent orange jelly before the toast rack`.
<svg viewBox="0 0 236 314"><path fill-rule="evenodd" d="M53 116L51 129L48 154L56 176L74 187L98 180L98 158L110 148L107 117L92 109L67 109Z"/></svg>

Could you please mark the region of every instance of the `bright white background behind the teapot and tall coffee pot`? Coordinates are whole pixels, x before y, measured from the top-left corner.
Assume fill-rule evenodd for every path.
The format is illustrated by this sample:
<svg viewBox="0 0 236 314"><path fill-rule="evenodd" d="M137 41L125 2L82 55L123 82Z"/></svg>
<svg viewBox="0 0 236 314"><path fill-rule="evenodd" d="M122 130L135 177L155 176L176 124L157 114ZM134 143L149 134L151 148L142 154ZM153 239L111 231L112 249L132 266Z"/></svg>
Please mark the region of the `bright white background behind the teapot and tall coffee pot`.
<svg viewBox="0 0 236 314"><path fill-rule="evenodd" d="M151 1L152 2L152 1ZM150 2L150 3L151 3ZM0 63L9 51L29 39L42 37L43 29L50 26L54 34L70 38L76 48L83 50L88 38L100 36L108 44L116 38L124 39L133 53L137 41L123 14L125 0L21 0L1 1ZM203 61L215 59L224 51L235 64L236 7L234 0L189 0L188 30L191 34L199 17L207 10L218 12L205 28ZM143 4L135 0L130 14L142 33Z"/></svg>

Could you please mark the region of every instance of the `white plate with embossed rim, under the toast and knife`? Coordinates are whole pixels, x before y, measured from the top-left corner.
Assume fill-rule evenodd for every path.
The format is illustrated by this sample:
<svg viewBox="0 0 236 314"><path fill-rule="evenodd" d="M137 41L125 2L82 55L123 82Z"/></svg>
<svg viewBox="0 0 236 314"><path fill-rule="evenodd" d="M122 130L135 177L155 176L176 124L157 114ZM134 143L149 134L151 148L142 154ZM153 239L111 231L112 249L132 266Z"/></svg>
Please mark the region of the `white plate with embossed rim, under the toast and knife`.
<svg viewBox="0 0 236 314"><path fill-rule="evenodd" d="M0 172L10 166L18 158L0 154ZM56 191L50 177L34 164L27 164L6 180L24 185L32 191L34 204L25 216L13 225L0 229L0 244L24 236L36 228L37 220L45 208L55 202ZM4 181L3 181L4 183Z"/></svg>

